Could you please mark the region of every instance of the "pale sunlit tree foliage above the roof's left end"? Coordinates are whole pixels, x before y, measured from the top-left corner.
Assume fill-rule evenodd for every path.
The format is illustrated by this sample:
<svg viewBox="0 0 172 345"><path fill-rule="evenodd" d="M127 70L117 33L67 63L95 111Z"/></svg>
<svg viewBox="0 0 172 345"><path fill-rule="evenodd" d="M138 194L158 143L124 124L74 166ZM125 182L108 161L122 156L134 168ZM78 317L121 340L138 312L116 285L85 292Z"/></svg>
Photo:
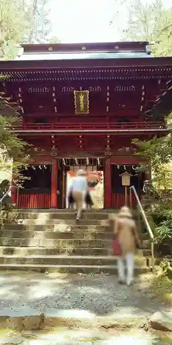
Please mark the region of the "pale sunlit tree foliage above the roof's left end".
<svg viewBox="0 0 172 345"><path fill-rule="evenodd" d="M50 0L0 1L0 59L14 59L21 43L51 41L49 3ZM57 37L52 40L59 43Z"/></svg>

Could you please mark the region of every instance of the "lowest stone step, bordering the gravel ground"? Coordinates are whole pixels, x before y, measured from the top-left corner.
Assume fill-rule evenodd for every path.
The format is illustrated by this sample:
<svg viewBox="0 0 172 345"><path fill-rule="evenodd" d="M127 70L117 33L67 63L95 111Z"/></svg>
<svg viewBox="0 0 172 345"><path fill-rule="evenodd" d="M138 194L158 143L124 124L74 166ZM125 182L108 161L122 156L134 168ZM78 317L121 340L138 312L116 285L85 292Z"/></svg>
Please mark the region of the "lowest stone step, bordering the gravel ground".
<svg viewBox="0 0 172 345"><path fill-rule="evenodd" d="M58 273L106 273L116 274L117 268L114 265L92 266L92 265L50 265L50 264L0 264L0 270L30 270L35 272L58 272ZM135 274L151 272L147 266L135 267Z"/></svg>

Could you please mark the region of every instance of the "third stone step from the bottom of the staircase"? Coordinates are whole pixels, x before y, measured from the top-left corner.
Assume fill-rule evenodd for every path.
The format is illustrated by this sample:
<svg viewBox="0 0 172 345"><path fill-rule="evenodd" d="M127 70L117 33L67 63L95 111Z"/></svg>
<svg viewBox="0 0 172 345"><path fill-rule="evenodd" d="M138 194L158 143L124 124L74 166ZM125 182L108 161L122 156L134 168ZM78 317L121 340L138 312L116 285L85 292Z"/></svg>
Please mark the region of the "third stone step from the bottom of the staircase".
<svg viewBox="0 0 172 345"><path fill-rule="evenodd" d="M138 255L144 255L149 257L150 249L139 249ZM109 248L41 248L41 247L11 247L11 246L0 246L0 255L93 255L93 256L106 256L111 255L112 250Z"/></svg>

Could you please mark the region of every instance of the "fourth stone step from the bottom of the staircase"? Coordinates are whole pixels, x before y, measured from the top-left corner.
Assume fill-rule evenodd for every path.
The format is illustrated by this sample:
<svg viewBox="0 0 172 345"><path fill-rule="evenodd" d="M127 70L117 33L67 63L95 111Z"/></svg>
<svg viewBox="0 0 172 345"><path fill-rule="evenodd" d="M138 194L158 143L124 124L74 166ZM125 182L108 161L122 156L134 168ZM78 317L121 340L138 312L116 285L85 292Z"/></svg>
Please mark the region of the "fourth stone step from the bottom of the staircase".
<svg viewBox="0 0 172 345"><path fill-rule="evenodd" d="M149 240L142 240L143 246L148 248ZM87 247L87 248L111 248L111 239L46 239L46 238L9 238L1 237L0 246L19 247Z"/></svg>

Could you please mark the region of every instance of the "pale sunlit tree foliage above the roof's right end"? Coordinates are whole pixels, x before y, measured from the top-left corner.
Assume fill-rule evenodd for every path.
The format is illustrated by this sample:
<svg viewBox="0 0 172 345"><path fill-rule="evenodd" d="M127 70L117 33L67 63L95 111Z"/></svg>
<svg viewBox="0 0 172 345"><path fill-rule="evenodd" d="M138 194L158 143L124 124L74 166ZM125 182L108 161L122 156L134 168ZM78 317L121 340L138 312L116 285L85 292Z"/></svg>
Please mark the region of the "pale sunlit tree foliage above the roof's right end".
<svg viewBox="0 0 172 345"><path fill-rule="evenodd" d="M124 39L129 41L153 41L155 56L172 55L172 8L165 9L161 0L152 3L133 0L128 7L127 29Z"/></svg>

